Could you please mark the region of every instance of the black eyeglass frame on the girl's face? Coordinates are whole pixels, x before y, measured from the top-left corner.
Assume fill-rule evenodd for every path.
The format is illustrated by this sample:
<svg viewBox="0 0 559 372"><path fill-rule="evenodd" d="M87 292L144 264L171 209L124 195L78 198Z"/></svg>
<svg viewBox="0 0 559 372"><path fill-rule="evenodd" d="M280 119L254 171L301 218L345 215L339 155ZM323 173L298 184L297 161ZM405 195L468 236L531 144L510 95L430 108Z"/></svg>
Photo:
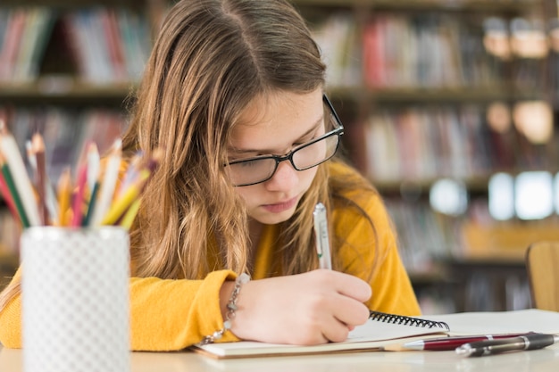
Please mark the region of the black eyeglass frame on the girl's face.
<svg viewBox="0 0 559 372"><path fill-rule="evenodd" d="M334 117L334 120L336 121L336 125L338 126L338 128L335 128L333 130L330 130L330 132L323 134L322 136L316 137L313 140L302 144L302 145L298 145L296 148L294 148L293 150L291 150L287 155L284 156L280 156L280 155L262 155L262 156L254 156L252 158L247 158L247 159L239 159L238 161L229 161L229 163L224 164L225 167L232 165L232 164L239 164L239 163L243 163L243 162L248 162L248 161L256 161L256 160L261 160L261 159L273 159L274 161L276 161L276 166L274 167L273 171L270 174L270 177L265 178L261 181L258 182L252 182L252 183L248 183L248 184L240 184L240 185L234 185L235 187L243 187L243 186L253 186L253 185L258 185L258 184L262 184L263 182L268 181L269 179L271 179L273 177L274 174L276 174L276 170L278 170L278 166L280 165L281 161L289 161L291 163L291 165L293 166L293 169L296 169L298 171L302 171L302 170L306 170L306 169L311 169L314 167L317 167L319 165L321 165L321 163L323 163L324 161L328 161L330 160L337 152L338 152L338 147L339 147L339 136L342 136L344 134L344 125L342 124L342 120L339 119L338 116L338 112L336 112L336 110L334 110L334 106L332 106L332 103L330 103L330 99L328 98L327 95L322 95L322 102L326 104L326 106L328 107L328 109L330 110L330 114ZM297 151L304 149L307 146L313 145L325 138L328 138L330 136L338 136L338 143L336 144L336 149L334 150L334 152L327 157L326 159L322 160L321 162L318 162L310 167L305 167L305 168L297 168L297 166L295 165L295 163L293 162L293 154L296 153Z"/></svg>

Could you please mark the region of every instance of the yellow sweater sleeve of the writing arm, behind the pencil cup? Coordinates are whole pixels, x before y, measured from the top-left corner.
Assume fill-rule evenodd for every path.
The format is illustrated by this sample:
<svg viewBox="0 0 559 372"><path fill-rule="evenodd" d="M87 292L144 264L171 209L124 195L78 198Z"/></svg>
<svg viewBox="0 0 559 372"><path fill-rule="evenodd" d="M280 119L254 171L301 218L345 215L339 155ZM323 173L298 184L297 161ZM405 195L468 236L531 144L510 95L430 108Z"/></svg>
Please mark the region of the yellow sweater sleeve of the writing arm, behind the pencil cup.
<svg viewBox="0 0 559 372"><path fill-rule="evenodd" d="M14 277L13 280L15 280ZM175 351L223 327L220 289L231 271L213 271L204 280L130 279L130 347L133 351ZM220 342L238 341L227 332ZM0 343L21 348L21 296L0 313Z"/></svg>

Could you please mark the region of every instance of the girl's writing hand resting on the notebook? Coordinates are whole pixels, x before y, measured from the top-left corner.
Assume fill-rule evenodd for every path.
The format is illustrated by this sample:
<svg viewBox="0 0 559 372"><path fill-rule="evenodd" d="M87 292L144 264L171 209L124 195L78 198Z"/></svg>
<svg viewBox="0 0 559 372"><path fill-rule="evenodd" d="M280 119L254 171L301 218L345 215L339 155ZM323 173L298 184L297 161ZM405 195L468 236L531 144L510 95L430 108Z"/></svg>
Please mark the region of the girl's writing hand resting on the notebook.
<svg viewBox="0 0 559 372"><path fill-rule="evenodd" d="M232 286L228 282L221 289L222 309ZM238 295L231 331L241 339L266 343L341 342L369 318L363 304L369 297L366 282L332 270L253 280Z"/></svg>

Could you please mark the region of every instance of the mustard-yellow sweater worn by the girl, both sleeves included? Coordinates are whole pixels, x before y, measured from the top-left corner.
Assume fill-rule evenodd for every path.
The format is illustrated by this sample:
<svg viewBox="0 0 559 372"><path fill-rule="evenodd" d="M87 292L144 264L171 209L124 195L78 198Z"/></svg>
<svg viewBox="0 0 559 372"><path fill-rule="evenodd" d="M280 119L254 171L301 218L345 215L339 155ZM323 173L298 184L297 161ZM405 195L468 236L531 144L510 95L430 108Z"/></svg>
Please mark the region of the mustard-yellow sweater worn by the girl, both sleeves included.
<svg viewBox="0 0 559 372"><path fill-rule="evenodd" d="M336 165L333 173L350 171ZM351 172L351 171L350 171ZM359 191L348 192L362 200ZM371 217L376 235L355 208L335 207L332 226L345 244L338 247L335 260L342 262L343 271L362 277L371 284L372 296L367 302L370 309L401 315L418 315L420 308L409 278L396 248L396 236L388 219L387 211L379 196L358 202ZM253 279L270 277L272 270L273 242L278 228L266 226L258 245L254 261ZM379 252L374 251L378 239ZM373 277L367 272L376 261ZM367 271L365 271L367 270ZM20 271L16 277L20 276ZM199 342L204 335L211 335L223 327L219 293L225 280L234 279L228 270L210 273L204 280L163 280L157 277L130 278L130 331L131 348L134 351L173 351ZM237 341L226 333L221 342ZM8 348L21 347L21 298L9 302L0 313L0 343Z"/></svg>

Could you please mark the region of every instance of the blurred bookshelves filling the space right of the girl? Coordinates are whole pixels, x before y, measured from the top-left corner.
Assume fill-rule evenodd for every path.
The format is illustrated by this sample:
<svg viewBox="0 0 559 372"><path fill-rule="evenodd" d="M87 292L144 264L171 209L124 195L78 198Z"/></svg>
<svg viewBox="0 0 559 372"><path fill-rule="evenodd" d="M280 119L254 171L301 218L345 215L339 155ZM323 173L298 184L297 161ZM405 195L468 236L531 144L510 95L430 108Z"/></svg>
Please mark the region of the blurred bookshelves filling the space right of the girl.
<svg viewBox="0 0 559 372"><path fill-rule="evenodd" d="M418 293L426 293L421 303L430 307L435 298L440 306L433 311L481 309L482 302L491 310L530 306L523 252L541 231L559 239L557 217L492 219L488 182L497 172L559 170L559 42L547 50L555 2L295 3L329 64L347 156L385 196L405 266ZM529 106L522 103L534 102L544 103L552 125L546 141L534 142L513 122L518 107ZM507 128L498 128L504 115ZM463 214L431 208L430 188L441 179L465 188ZM473 298L471 288L480 283L486 297ZM489 304L491 293L506 294Z"/></svg>

